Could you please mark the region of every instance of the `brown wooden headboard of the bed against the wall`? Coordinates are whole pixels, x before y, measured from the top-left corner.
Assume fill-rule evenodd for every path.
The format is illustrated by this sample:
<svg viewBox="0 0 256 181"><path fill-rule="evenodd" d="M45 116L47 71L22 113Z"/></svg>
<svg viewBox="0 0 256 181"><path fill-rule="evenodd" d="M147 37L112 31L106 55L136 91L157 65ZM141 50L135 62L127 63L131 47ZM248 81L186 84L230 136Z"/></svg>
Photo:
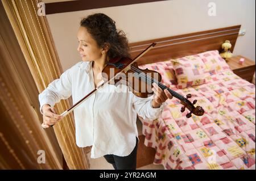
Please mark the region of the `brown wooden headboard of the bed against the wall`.
<svg viewBox="0 0 256 181"><path fill-rule="evenodd" d="M137 61L138 65L150 64L153 62L170 60L205 52L208 50L221 50L221 44L229 40L232 44L230 49L233 52L241 25L218 28L215 30L189 33L130 43L131 57L135 58L139 53L146 49L151 43L156 43L155 47L144 54Z"/></svg>

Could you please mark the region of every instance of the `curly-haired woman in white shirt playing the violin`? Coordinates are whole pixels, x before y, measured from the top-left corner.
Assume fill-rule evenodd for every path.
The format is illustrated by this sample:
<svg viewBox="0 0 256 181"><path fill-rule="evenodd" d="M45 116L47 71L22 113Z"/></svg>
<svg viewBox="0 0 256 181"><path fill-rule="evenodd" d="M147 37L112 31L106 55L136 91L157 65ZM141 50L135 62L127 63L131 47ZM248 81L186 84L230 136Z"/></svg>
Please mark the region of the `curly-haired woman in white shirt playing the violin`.
<svg viewBox="0 0 256 181"><path fill-rule="evenodd" d="M76 103L100 83L101 71L111 58L130 57L125 34L117 32L115 22L105 14L82 19L77 38L82 61L39 95L43 128L61 119L53 108L55 103L71 95ZM154 120L163 109L162 103L172 99L170 92L153 86L154 98L139 98L129 87L120 85L106 85L90 96L74 110L77 146L92 145L91 158L104 156L114 169L136 169L137 114Z"/></svg>

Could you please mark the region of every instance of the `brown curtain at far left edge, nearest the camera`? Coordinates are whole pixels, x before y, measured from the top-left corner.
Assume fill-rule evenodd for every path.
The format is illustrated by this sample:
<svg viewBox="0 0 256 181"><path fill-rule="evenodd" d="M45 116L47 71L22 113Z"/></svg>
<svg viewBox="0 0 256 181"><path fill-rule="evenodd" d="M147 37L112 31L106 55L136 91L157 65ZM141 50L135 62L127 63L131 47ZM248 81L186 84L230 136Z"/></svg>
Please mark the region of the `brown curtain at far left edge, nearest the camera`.
<svg viewBox="0 0 256 181"><path fill-rule="evenodd" d="M40 128L39 92L1 2L0 24L0 169L62 169L54 132Z"/></svg>

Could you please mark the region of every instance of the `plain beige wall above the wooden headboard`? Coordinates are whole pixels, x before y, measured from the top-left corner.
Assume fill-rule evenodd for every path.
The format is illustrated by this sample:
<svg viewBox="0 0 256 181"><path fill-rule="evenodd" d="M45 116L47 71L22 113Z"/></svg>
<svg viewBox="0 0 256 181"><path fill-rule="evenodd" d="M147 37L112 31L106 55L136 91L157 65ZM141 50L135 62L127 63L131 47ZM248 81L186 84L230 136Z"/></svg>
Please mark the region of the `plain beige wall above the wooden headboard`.
<svg viewBox="0 0 256 181"><path fill-rule="evenodd" d="M209 2L215 3L216 16L208 15ZM130 43L241 24L246 35L238 37L233 53L255 61L254 0L174 0L47 15L63 70L81 61L77 52L79 22L96 12L114 19Z"/></svg>

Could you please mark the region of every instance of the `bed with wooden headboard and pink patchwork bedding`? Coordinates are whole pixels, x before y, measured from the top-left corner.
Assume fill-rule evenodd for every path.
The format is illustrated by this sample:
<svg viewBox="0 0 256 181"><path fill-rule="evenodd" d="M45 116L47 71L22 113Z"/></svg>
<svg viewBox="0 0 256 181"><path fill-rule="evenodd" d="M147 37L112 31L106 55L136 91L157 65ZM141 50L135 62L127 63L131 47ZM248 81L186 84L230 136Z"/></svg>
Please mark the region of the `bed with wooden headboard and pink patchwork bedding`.
<svg viewBox="0 0 256 181"><path fill-rule="evenodd" d="M148 122L139 117L144 145L155 149L154 164L164 169L255 169L255 86L234 74L218 54L225 40L234 47L239 30L233 26L131 44L135 56L156 42L139 67L158 71L170 89L191 94L205 111L187 118L188 111L180 112L182 105L173 98L158 119ZM191 71L189 64L202 68L204 76L196 74L203 80L180 78L186 67Z"/></svg>

